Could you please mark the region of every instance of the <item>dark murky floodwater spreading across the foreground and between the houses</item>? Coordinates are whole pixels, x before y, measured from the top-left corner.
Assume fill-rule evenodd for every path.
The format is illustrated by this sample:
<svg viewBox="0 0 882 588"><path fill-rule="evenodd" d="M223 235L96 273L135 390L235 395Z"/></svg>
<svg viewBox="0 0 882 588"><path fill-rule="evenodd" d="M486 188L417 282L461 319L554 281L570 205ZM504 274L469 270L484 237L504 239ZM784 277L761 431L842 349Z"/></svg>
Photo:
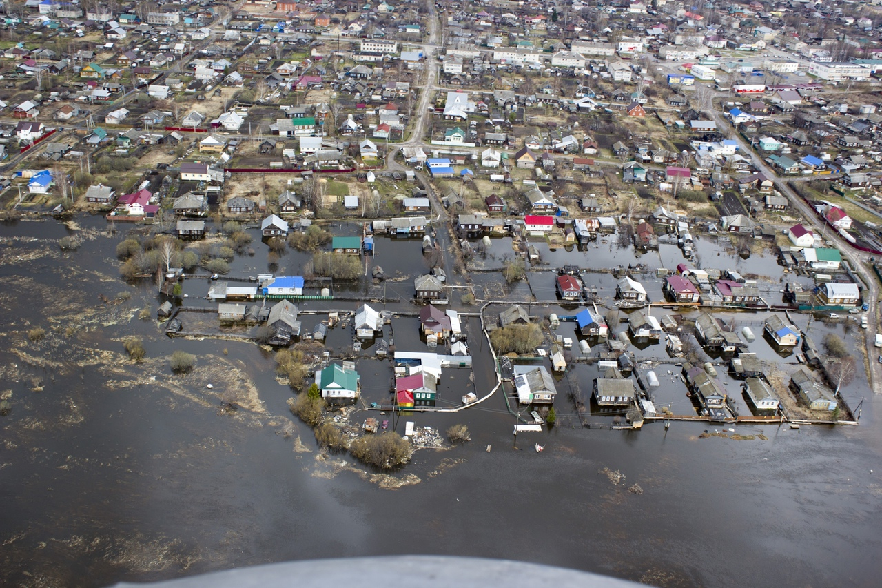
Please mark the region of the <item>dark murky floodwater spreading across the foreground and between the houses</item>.
<svg viewBox="0 0 882 588"><path fill-rule="evenodd" d="M288 412L291 392L272 354L170 340L154 320L138 320L143 308L154 316L153 286L118 279L121 235L103 233L100 219L77 222L73 233L86 238L76 253L58 250L71 231L57 222L0 226L0 396L12 407L0 417L0 584L102 586L305 558L467 554L665 586L878 585L882 433L863 375L847 390L849 403L866 396L861 426L737 426L767 441L699 439L711 426L680 422L667 432L584 429L566 398L557 426L515 439L497 394L460 413L393 422L398 431L403 420L442 431L465 423L472 441L421 449L401 471L377 476L318 452ZM423 271L409 241L381 245L382 263L394 266L390 253L405 243L402 271ZM265 247L255 249L235 260L236 272L265 268ZM298 255L282 259L301 263ZM121 292L131 298L99 298ZM37 343L27 336L34 327L47 331ZM417 345L414 319L395 328L400 348ZM478 321L467 328L474 382L445 373L445 398L495 384ZM813 323L816 341L826 328ZM332 334L333 351L351 344L351 329ZM144 339L142 364L125 358L129 335ZM775 360L767 348L759 336L751 343ZM183 377L165 360L179 349L198 357ZM645 352L662 356L663 347ZM388 362L369 351L358 361L370 394L384 395ZM592 369L573 370L576 387L590 386ZM665 394L673 402L676 388ZM242 408L222 411L226 395ZM628 491L634 484L642 494Z"/></svg>

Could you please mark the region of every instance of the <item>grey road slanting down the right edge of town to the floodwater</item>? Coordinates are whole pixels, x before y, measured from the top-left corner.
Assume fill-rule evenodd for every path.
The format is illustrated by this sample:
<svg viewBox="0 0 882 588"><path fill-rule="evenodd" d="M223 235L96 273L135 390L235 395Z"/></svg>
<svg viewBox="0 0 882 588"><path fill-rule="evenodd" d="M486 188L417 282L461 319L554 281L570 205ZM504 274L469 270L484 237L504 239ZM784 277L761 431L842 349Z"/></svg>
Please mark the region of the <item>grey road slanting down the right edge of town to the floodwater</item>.
<svg viewBox="0 0 882 588"><path fill-rule="evenodd" d="M721 112L714 110L714 120L720 129L726 128L729 123L726 121ZM873 345L876 341L876 333L878 332L878 280L876 279L875 272L873 269L866 263L865 253L858 252L856 249L852 248L845 239L841 238L838 234L833 231L825 231L824 222L818 219L818 215L815 214L815 211L809 207L805 201L799 197L796 192L794 192L787 182L781 177L778 177L773 170L769 169L766 166L766 162L762 160L759 155L751 151L750 145L744 141L744 138L740 134L733 135L736 141L738 141L739 146L741 147L741 151L744 154L750 154L751 159L753 160L754 166L756 166L757 170L761 171L774 180L775 186L778 188L778 191L788 197L790 200L791 206L795 207L799 210L800 213L804 216L807 222L811 223L819 233L826 233L826 238L828 241L833 242L833 245L839 249L840 253L848 259L848 262L851 264L851 267L854 268L855 273L858 275L863 275L866 278L866 290L864 292L863 299L870 303L870 310L868 311L868 322L870 323L870 327L863 329L863 334L865 338L865 344L867 347L867 359L868 359L868 372L870 375L870 388L873 390L875 394L882 393L882 388L880 388L879 384L879 364L877 361L873 361L875 358L875 354L872 353ZM801 178L806 179L806 178Z"/></svg>

